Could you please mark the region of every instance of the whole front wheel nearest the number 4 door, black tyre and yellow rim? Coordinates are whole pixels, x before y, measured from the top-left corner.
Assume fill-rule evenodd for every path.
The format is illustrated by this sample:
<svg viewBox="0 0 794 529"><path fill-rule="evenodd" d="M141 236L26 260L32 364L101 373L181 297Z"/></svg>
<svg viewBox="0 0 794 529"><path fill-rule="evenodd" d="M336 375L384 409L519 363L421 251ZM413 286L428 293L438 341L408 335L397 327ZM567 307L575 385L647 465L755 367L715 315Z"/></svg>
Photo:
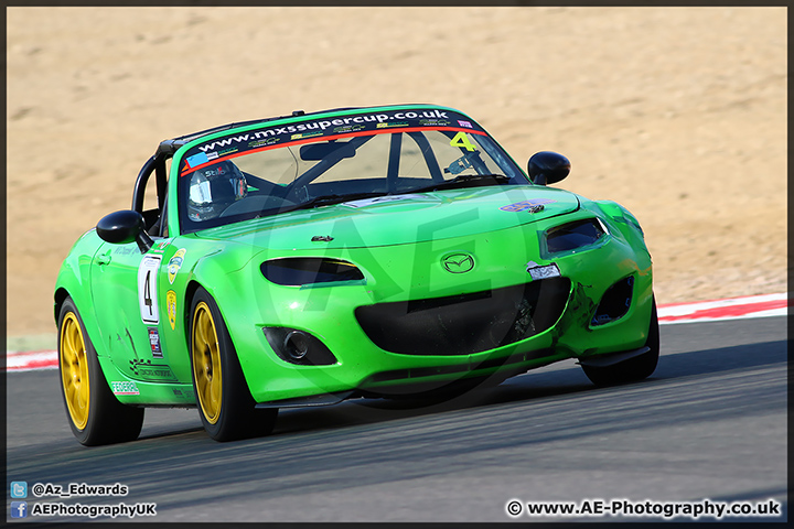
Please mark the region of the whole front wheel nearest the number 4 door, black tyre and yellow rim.
<svg viewBox="0 0 794 529"><path fill-rule="evenodd" d="M221 311L200 288L191 303L193 389L204 429L215 441L267 435L278 409L255 408Z"/></svg>

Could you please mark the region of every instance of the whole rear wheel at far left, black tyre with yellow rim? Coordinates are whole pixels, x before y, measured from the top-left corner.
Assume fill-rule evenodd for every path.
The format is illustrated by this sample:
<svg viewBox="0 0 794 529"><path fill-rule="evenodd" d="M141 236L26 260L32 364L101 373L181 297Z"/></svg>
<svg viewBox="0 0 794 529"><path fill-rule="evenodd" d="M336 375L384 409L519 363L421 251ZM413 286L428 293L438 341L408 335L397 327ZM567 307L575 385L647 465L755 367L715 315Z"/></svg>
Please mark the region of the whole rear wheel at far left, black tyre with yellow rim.
<svg viewBox="0 0 794 529"><path fill-rule="evenodd" d="M110 391L72 298L58 315L58 369L66 417L77 441L95 446L138 439L143 408L122 404Z"/></svg>

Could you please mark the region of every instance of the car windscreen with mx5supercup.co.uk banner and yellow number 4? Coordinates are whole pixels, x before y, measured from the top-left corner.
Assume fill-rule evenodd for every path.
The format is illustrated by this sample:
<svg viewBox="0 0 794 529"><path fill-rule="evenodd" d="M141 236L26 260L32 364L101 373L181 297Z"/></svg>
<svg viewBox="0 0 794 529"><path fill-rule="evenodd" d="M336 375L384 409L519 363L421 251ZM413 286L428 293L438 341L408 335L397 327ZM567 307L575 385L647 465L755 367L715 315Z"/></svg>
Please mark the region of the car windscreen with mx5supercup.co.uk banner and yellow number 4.
<svg viewBox="0 0 794 529"><path fill-rule="evenodd" d="M191 148L180 224L191 233L367 197L528 183L479 125L447 109L307 116Z"/></svg>

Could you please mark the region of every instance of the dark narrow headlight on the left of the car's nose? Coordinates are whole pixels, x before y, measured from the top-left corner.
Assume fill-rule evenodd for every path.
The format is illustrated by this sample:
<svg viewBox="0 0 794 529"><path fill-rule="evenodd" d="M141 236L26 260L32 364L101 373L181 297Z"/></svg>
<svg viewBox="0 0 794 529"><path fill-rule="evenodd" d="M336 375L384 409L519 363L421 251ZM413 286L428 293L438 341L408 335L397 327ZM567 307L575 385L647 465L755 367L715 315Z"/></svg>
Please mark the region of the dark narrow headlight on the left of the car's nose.
<svg viewBox="0 0 794 529"><path fill-rule="evenodd" d="M288 287L337 281L361 281L364 274L352 262L320 257L288 257L261 263L268 281Z"/></svg>

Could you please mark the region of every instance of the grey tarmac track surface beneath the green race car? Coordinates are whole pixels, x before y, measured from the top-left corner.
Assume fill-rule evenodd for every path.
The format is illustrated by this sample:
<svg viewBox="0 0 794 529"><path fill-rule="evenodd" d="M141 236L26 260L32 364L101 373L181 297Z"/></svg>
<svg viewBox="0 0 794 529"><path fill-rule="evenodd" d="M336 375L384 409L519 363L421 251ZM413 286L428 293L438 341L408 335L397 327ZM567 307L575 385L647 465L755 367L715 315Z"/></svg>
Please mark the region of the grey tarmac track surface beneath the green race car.
<svg viewBox="0 0 794 529"><path fill-rule="evenodd" d="M210 440L195 410L149 409L138 441L93 449L67 427L56 370L13 373L7 477L121 483L125 497L29 496L29 508L157 503L141 521L511 521L511 499L773 498L782 517L759 521L780 522L786 353L785 317L664 325L659 365L643 382L596 388L566 361L430 406L282 411L272 435L234 443ZM26 521L55 519L88 520Z"/></svg>

